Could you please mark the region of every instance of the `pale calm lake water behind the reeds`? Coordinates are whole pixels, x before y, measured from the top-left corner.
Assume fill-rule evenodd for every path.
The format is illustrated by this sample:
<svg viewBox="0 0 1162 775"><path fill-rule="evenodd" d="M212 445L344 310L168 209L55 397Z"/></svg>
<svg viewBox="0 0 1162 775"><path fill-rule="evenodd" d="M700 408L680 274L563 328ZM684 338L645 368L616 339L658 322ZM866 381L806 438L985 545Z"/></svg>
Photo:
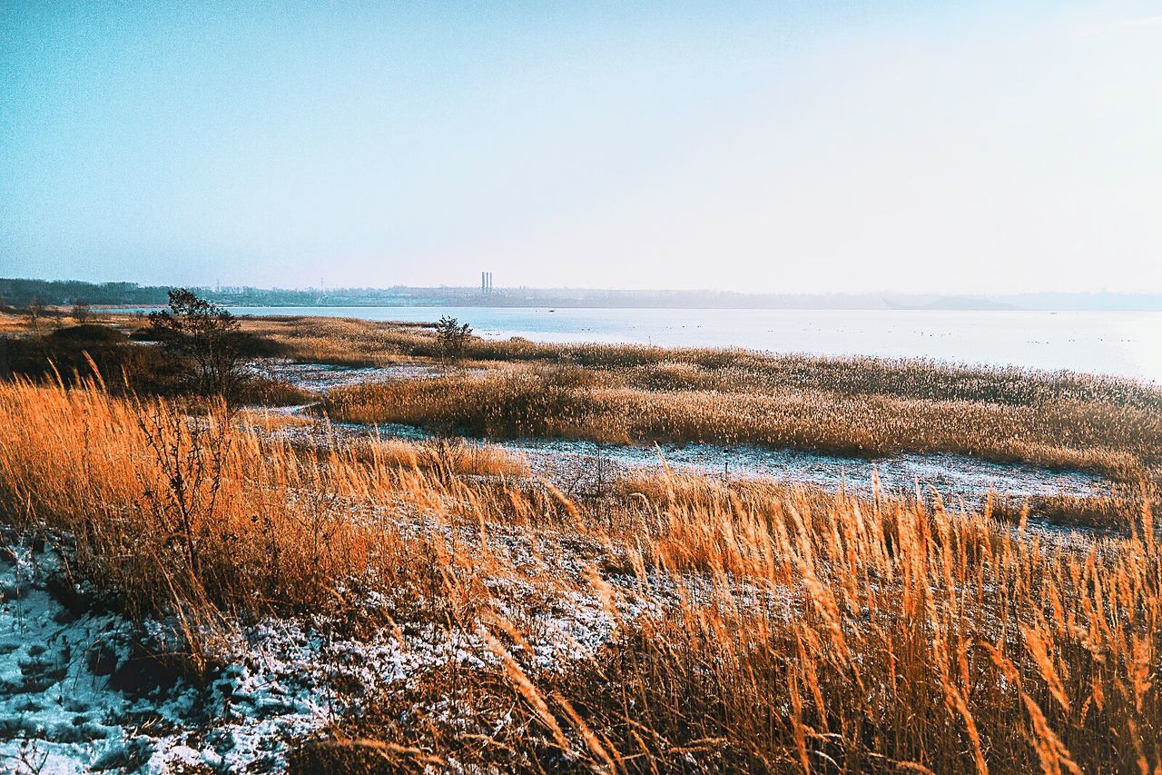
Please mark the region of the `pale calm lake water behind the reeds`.
<svg viewBox="0 0 1162 775"><path fill-rule="evenodd" d="M433 321L543 342L744 347L1071 369L1162 383L1162 312L237 307L238 314Z"/></svg>

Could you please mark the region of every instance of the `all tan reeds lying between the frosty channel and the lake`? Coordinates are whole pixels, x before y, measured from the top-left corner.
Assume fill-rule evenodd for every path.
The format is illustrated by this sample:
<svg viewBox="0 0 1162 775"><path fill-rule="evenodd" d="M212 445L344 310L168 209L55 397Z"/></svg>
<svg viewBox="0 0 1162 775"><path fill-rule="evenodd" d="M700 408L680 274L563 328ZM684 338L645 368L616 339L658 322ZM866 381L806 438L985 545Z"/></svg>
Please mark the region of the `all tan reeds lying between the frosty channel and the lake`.
<svg viewBox="0 0 1162 775"><path fill-rule="evenodd" d="M425 325L270 317L246 318L244 327L304 362L387 365L439 353ZM356 422L494 438L755 443L869 457L947 452L1088 469L1134 484L1155 479L1162 462L1162 391L1131 379L525 340L474 339L466 356L490 370L339 389L328 411ZM301 389L264 381L243 397L310 400Z"/></svg>

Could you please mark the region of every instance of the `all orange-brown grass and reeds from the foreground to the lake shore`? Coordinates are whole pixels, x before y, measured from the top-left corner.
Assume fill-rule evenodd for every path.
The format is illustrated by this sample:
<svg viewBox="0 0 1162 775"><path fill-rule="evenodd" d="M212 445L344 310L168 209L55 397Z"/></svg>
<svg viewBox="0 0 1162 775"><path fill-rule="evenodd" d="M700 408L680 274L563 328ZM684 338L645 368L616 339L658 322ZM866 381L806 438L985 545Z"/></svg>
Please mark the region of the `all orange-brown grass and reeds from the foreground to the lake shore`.
<svg viewBox="0 0 1162 775"><path fill-rule="evenodd" d="M426 328L325 325L337 328L242 323L281 357L439 357ZM1081 467L1124 484L1088 504L1088 519L1117 532L1037 529L1030 504L1004 493L973 509L924 491L666 468L619 471L581 496L487 445L340 434L316 417L135 391L78 369L0 382L5 540L13 552L56 547L67 562L52 589L87 590L89 609L168 633L152 659L205 688L210 727L243 712L214 689L246 669L231 667L239 628L309 632L296 659L320 668L313 691L328 703L266 758L237 760L256 768L1162 767L1153 386L473 339L462 360L435 376L337 388L325 411L495 438ZM53 755L106 745L56 734L21 727L3 745L31 735ZM137 734L152 746L178 739ZM227 745L180 740L171 753Z"/></svg>

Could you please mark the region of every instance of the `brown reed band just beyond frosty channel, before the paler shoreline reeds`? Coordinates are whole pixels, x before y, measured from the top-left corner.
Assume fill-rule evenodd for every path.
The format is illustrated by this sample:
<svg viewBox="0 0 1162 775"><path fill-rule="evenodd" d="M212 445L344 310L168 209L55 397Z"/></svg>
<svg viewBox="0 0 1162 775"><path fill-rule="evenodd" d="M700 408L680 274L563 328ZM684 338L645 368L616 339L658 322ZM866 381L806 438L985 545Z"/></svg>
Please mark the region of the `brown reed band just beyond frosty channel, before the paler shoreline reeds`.
<svg viewBox="0 0 1162 775"><path fill-rule="evenodd" d="M881 365L852 363L856 374L849 379L862 385L868 375L859 370ZM923 384L924 369L914 371L910 378ZM881 393L863 393L782 382L766 388L744 377L712 377L717 382L709 389L676 390L673 382L658 385L655 377L655 370L510 367L483 376L344 388L330 394L328 412L353 422L493 438L754 443L865 456L955 453L1089 469L1128 482L1147 478L1162 448L1162 393L1138 385L1124 399L1113 392L1082 400L1030 376L1027 390L1002 403L917 398L924 391L890 389L890 381Z"/></svg>

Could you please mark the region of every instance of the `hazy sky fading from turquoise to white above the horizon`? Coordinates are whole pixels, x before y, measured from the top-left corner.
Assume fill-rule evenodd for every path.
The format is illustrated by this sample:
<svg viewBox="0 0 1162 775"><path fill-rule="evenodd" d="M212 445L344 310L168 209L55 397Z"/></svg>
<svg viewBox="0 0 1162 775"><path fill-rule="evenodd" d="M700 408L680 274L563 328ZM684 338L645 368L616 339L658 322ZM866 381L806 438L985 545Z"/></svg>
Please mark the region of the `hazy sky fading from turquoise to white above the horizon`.
<svg viewBox="0 0 1162 775"><path fill-rule="evenodd" d="M1162 291L1162 0L0 0L0 277L481 270Z"/></svg>

